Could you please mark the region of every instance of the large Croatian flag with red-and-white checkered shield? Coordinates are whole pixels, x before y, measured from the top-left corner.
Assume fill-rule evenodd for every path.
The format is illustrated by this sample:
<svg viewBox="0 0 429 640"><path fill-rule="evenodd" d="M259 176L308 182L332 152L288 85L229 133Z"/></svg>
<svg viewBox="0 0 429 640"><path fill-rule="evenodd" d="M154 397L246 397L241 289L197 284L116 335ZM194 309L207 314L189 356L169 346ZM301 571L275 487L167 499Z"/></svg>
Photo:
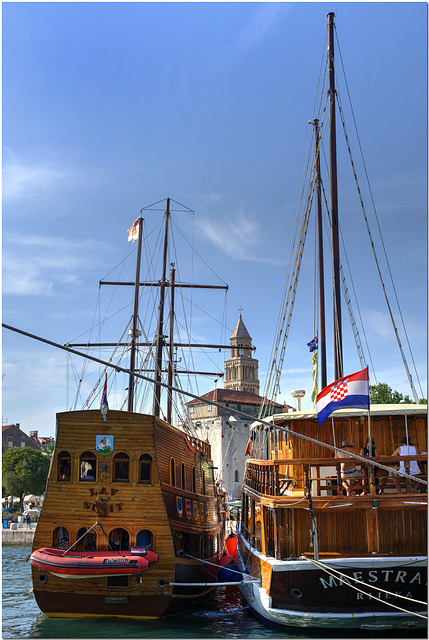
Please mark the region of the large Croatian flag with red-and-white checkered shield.
<svg viewBox="0 0 429 640"><path fill-rule="evenodd" d="M317 395L317 417L322 424L333 411L345 407L369 411L368 367L335 380Z"/></svg>

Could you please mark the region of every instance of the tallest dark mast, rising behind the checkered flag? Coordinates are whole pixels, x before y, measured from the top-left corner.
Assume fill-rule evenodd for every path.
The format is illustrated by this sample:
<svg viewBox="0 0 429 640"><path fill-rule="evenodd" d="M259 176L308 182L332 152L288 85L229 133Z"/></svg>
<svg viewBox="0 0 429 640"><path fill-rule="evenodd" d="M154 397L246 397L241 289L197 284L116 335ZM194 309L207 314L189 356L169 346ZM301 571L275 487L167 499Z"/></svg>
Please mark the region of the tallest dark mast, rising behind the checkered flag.
<svg viewBox="0 0 429 640"><path fill-rule="evenodd" d="M332 272L334 302L334 368L335 379L343 376L343 343L341 330L340 249L338 233L337 141L335 126L335 65L334 65L334 14L328 13L329 53L329 124L330 124L330 178L331 178L331 227Z"/></svg>

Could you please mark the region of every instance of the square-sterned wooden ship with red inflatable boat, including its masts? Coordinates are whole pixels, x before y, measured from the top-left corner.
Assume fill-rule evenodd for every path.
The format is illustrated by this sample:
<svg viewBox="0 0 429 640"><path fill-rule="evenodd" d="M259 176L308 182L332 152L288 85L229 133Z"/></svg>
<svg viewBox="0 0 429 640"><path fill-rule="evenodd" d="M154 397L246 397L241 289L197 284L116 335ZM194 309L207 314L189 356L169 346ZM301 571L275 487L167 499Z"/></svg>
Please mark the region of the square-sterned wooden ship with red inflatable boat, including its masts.
<svg viewBox="0 0 429 640"><path fill-rule="evenodd" d="M174 277L166 278L169 220L167 199L163 275L154 283L160 303L153 412L138 413L133 402L135 381L144 377L136 365L142 344L140 217L130 231L138 247L127 409L109 409L106 374L101 409L57 414L55 451L30 559L36 602L50 617L158 618L188 608L216 585L225 503L210 445L186 425L171 424L171 393L167 417L161 417L161 387L171 390L175 380L174 358L168 358L168 372L162 364L163 348L170 356L174 348L172 325L168 339L163 317L167 288L174 298ZM83 345L66 348L73 352L76 346ZM162 383L163 371L167 383Z"/></svg>

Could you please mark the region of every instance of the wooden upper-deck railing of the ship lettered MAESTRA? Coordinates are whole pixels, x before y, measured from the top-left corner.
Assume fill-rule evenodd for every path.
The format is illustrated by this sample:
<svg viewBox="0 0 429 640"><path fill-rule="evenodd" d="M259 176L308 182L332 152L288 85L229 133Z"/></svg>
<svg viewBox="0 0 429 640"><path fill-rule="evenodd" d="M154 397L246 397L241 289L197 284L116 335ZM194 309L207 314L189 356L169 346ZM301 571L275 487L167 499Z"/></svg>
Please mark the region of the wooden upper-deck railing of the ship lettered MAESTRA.
<svg viewBox="0 0 429 640"><path fill-rule="evenodd" d="M391 473L395 473L396 466L399 466L400 461L404 461L405 473L408 475L410 475L411 460L421 463L422 466L427 465L427 456L423 454L380 456L371 457L368 460L390 466ZM311 488L314 495L320 495L321 491L332 492L342 486L341 463L344 462L352 462L356 464L356 468L361 468L361 464L357 463L355 458L249 460L246 467L245 484L253 491L267 496L282 496L291 485L307 490ZM367 468L370 493L375 494L377 489L375 467L368 464ZM427 479L427 470L425 469L424 473L418 477ZM411 481L406 480L408 492ZM421 486L427 490L426 485ZM342 490L340 490L340 494L342 495Z"/></svg>

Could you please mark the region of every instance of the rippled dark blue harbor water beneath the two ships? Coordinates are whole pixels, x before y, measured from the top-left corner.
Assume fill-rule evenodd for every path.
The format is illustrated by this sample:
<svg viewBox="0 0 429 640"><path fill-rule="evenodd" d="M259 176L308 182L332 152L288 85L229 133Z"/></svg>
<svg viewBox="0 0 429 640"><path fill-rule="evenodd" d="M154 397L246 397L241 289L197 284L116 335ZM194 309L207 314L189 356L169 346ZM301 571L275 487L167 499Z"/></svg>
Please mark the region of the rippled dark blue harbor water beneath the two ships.
<svg viewBox="0 0 429 640"><path fill-rule="evenodd" d="M3 546L3 638L332 638L335 636L273 628L251 612L236 587L220 587L191 611L160 620L55 619L44 616L31 593L29 546ZM366 632L360 637L371 636ZM392 637L426 637L424 632L394 631Z"/></svg>

